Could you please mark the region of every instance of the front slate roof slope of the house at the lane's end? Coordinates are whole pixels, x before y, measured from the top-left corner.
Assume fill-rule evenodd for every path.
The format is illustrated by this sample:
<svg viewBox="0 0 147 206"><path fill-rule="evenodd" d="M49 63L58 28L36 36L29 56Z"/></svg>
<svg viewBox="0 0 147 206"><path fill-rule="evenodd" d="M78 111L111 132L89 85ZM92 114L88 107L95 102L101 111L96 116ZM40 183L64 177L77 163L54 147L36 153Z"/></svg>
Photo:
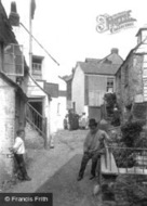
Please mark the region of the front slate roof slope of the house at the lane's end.
<svg viewBox="0 0 147 206"><path fill-rule="evenodd" d="M79 66L84 72L84 74L95 74L95 75L115 75L120 67L120 64L91 64L91 63L80 63Z"/></svg>

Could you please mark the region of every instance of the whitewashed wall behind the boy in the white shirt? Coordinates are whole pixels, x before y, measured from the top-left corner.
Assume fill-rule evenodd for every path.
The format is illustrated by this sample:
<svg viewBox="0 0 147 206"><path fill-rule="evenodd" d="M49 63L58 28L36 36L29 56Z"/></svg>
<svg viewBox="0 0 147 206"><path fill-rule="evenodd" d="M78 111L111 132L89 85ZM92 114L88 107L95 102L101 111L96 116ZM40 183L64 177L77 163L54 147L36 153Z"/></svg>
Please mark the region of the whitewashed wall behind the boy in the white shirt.
<svg viewBox="0 0 147 206"><path fill-rule="evenodd" d="M15 91L0 78L0 181L13 173L12 147L15 136Z"/></svg>

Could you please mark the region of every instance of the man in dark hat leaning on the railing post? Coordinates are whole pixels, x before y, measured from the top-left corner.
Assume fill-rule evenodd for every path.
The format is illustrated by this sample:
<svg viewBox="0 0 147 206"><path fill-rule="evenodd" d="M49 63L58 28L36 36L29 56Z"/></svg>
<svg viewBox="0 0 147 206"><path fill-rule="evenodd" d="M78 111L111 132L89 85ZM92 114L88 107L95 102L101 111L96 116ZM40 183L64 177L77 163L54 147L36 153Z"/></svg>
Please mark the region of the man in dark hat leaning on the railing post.
<svg viewBox="0 0 147 206"><path fill-rule="evenodd" d="M92 118L89 120L89 128L90 131L86 134L83 144L83 157L81 162L79 176L77 178L78 181L83 179L84 170L90 159L92 159L92 167L91 167L92 176L90 180L95 178L97 160L98 158L101 158L101 154L103 154L105 150L104 140L106 140L106 142L110 140L109 136L105 131L98 129L98 124L96 123L95 119Z"/></svg>

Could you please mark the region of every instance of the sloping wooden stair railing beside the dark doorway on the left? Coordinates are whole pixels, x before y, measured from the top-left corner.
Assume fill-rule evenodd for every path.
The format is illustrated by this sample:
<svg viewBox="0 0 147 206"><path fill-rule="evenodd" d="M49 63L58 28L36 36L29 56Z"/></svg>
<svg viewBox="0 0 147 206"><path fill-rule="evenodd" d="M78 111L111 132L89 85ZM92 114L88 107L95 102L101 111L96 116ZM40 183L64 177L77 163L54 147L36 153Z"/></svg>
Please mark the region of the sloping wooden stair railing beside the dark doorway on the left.
<svg viewBox="0 0 147 206"><path fill-rule="evenodd" d="M46 139L46 118L44 118L29 103L26 104L26 119L45 140Z"/></svg>

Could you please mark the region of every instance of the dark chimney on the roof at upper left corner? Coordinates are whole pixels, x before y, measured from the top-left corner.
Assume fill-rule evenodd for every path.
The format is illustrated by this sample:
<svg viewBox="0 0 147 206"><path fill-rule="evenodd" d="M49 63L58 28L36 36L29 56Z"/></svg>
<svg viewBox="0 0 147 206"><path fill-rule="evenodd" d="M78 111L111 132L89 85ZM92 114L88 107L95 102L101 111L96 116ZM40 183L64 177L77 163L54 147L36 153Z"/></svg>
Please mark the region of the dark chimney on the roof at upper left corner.
<svg viewBox="0 0 147 206"><path fill-rule="evenodd" d="M11 2L11 12L10 12L9 21L10 21L11 26L19 26L19 15L17 13L15 1Z"/></svg>

